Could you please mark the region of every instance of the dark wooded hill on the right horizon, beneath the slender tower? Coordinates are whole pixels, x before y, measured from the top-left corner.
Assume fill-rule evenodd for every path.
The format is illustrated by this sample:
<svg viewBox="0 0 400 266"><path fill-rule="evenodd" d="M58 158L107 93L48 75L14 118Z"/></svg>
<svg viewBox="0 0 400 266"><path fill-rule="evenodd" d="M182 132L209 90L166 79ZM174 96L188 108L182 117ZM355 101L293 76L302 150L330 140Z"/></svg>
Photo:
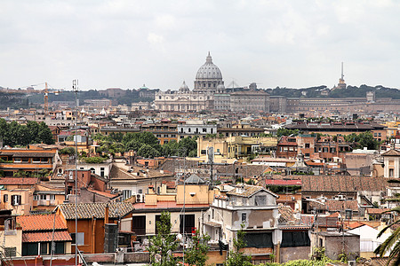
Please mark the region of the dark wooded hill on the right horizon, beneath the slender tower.
<svg viewBox="0 0 400 266"><path fill-rule="evenodd" d="M321 91L328 91L328 87L321 85L318 87L288 89L279 88L267 89L272 96L284 96L287 98L364 98L368 91L375 91L376 98L400 99L400 90L386 88L383 86L361 85L360 87L348 86L346 89L329 90L327 95L321 95Z"/></svg>

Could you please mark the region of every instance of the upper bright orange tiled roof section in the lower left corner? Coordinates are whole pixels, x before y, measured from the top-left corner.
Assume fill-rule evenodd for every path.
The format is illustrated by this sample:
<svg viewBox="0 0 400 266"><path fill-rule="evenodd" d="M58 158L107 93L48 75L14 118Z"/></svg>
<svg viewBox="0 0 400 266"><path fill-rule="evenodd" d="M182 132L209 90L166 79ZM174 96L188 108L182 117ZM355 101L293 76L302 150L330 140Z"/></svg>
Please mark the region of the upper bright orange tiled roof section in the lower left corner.
<svg viewBox="0 0 400 266"><path fill-rule="evenodd" d="M45 231L52 230L54 215L21 215L17 216L22 231ZM67 224L62 222L60 215L55 215L56 230L67 229Z"/></svg>

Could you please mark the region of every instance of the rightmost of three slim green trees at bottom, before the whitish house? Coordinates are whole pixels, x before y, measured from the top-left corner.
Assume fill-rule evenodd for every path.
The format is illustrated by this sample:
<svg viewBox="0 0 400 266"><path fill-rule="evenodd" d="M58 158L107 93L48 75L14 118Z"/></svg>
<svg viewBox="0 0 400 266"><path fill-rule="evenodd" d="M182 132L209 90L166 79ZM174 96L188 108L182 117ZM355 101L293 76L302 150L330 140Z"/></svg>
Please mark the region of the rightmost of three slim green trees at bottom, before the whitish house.
<svg viewBox="0 0 400 266"><path fill-rule="evenodd" d="M234 239L234 247L236 250L229 251L228 260L224 263L225 266L252 266L252 257L244 255L243 251L240 249L246 247L244 241L245 231L244 224L241 224L241 229L236 233L236 239Z"/></svg>

